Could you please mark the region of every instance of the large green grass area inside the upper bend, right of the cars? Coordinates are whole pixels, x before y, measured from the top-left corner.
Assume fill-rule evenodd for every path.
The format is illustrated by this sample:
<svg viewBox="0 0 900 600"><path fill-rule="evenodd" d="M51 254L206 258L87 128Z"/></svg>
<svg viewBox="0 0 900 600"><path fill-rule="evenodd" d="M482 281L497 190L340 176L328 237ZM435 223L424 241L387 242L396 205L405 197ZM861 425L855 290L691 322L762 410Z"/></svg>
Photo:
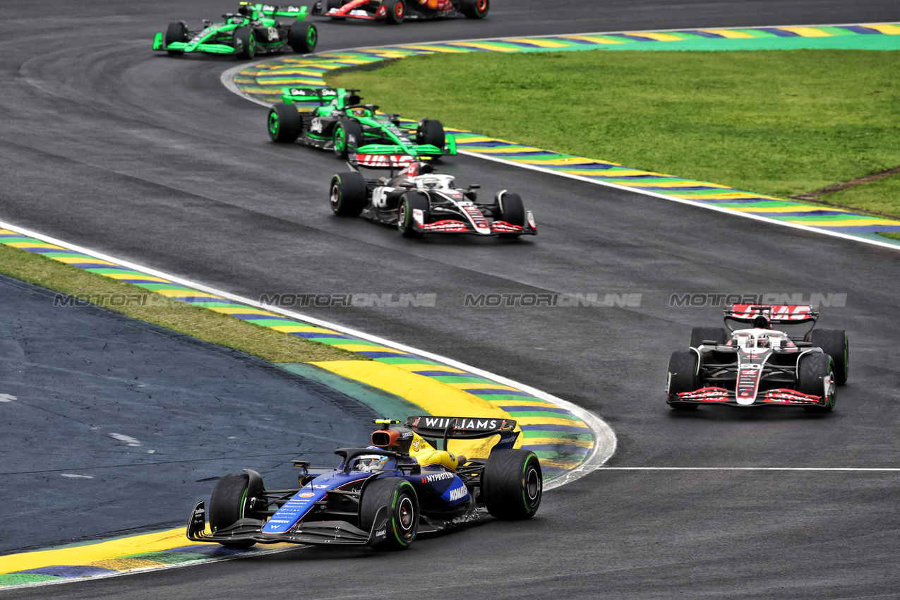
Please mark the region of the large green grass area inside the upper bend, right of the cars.
<svg viewBox="0 0 900 600"><path fill-rule="evenodd" d="M896 65L869 50L473 52L327 79L406 117L787 197L900 165ZM878 206L900 214L896 197Z"/></svg>

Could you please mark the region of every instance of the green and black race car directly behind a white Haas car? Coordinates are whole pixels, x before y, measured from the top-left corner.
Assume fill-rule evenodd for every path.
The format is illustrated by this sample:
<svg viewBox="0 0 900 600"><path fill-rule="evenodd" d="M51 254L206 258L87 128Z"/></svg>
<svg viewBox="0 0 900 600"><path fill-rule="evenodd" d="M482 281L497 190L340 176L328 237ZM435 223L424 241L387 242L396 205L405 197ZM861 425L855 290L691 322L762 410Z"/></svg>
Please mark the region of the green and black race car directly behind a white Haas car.
<svg viewBox="0 0 900 600"><path fill-rule="evenodd" d="M372 166L456 154L456 141L440 121L401 123L400 114L384 114L374 104L363 104L358 91L283 88L282 103L269 110L269 137L284 144L300 139L307 146L332 150L340 158L375 163Z"/></svg>

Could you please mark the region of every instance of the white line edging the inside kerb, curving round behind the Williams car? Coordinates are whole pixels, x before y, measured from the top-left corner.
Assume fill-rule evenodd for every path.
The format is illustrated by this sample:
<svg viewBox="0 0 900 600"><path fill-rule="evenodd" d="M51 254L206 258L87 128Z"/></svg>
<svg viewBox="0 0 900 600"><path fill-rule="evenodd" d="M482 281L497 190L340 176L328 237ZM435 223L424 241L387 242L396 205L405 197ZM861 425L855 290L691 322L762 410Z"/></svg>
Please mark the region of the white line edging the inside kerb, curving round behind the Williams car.
<svg viewBox="0 0 900 600"><path fill-rule="evenodd" d="M513 381L507 379L505 377L501 377L500 375L495 375L491 372L484 371L482 369L478 369L477 367L473 367L471 365L460 363L451 358L446 358L445 356L441 356L439 354L432 354L430 352L425 352L419 350L418 348L413 348L408 345L397 344L390 340L384 339L383 337L378 336L370 336L369 334L363 333L362 331L357 331L356 329L351 329L349 327L343 327L340 325L336 325L334 323L330 323L329 321L323 321L320 318L313 318L307 315L302 315L298 312L293 312L293 310L285 310L280 307L270 306L268 304L263 304L261 302L257 302L257 300L250 300L249 298L244 298L242 296L238 296L237 294L229 293L228 291L217 290L208 285L204 285L202 283L193 282L188 279L184 279L183 277L178 277L176 275L172 275L170 273L164 273L162 271L157 271L157 269L152 269L150 267L144 266L142 264L131 263L130 261L124 261L120 258L116 258L115 256L105 255L101 252L96 252L91 250L90 248L85 248L83 246L75 246L74 244L69 244L63 240L59 240L55 237L45 236L37 231L31 231L31 229L25 229L17 227L11 223L5 223L0 221L0 228L9 229L11 231L15 231L16 233L22 234L23 236L34 237L36 239L40 239L49 244L53 244L56 246L67 247L70 250L75 250L76 252L81 252L85 255L94 256L94 258L99 258L100 260L109 261L115 264L121 264L121 266L128 267L129 269L133 269L135 271L140 271L141 273L147 273L149 275L155 275L157 277L161 277L163 279L167 279L170 282L180 283L189 288L193 288L194 290L205 291L207 293L215 294L216 296L221 296L222 298L227 298L229 300L234 300L235 302L240 302L241 304L246 304L247 306L256 307L257 309L266 309L271 312L278 313L280 315L284 315L285 317L294 318L297 320L304 321L306 323L311 323L312 325L318 325L320 327L326 327L329 329L337 329L338 331L347 334L348 336L355 336L365 340L369 340L370 342L374 342L378 345L385 345L400 350L401 352L406 352L410 354L417 354L419 356L424 356L425 358L431 359L433 361L437 361L438 363L444 363L452 367L456 367L457 369L461 369L463 371L471 372L481 377L497 381L498 383L502 383L503 385L508 385L512 388L518 388L518 390L525 391L536 398L546 400L547 402L552 402L558 407L563 407L566 410L572 412L573 415L578 416L585 424L590 427L591 433L594 434L595 443L593 449L591 449L590 454L585 458L581 464L575 469L569 470L560 477L556 479L552 479L547 483L545 489L553 489L558 488L570 481L575 479L579 479L584 475L588 474L590 471L599 468L604 462L608 461L609 458L616 452L616 434L613 432L612 428L607 424L606 421L601 419L599 416L594 415L589 410L586 410L582 407L579 407L572 402L568 402L566 400L556 398L552 394L548 394L542 390L536 390L531 386L527 386L525 384L519 383L518 381Z"/></svg>

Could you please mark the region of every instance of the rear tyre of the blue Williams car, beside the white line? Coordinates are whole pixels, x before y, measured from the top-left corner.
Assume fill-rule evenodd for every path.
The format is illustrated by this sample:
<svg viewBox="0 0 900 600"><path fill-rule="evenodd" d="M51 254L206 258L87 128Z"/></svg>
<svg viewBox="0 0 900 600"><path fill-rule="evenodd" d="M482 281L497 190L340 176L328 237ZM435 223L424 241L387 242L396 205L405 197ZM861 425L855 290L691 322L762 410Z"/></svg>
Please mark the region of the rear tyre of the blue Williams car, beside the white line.
<svg viewBox="0 0 900 600"><path fill-rule="evenodd" d="M528 519L541 506L544 478L530 450L495 450L482 472L482 499L488 512L509 521Z"/></svg>

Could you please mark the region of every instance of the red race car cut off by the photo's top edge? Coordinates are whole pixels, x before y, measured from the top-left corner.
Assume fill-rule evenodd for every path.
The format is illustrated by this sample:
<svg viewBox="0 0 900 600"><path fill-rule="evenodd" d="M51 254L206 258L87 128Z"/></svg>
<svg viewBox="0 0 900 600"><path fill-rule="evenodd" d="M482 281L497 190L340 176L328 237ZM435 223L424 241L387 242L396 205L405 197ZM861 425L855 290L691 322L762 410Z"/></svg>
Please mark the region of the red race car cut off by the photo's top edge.
<svg viewBox="0 0 900 600"><path fill-rule="evenodd" d="M318 0L312 14L332 19L368 19L398 25L406 19L483 19L489 0Z"/></svg>

